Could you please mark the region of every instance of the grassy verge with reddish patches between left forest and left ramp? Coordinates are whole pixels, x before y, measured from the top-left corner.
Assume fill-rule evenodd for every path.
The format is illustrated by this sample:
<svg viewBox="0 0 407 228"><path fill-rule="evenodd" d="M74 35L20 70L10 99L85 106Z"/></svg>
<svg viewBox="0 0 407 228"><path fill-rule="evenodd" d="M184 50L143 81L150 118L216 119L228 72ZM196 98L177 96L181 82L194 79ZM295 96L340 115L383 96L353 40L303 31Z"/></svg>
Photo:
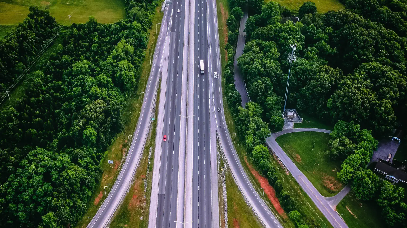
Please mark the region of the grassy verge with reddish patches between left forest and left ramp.
<svg viewBox="0 0 407 228"><path fill-rule="evenodd" d="M153 24L159 23L162 20L163 13L160 12L161 6L158 6L156 9L156 13L153 17ZM88 217L92 219L92 217L96 214L97 210L101 206L103 200L105 200L104 189L103 186L108 186L106 188L106 193L109 194L110 188L116 181L117 175L120 171L120 164L124 162L125 155L127 153L127 149L129 147L129 143L127 142L129 135L132 135L134 129L136 129L137 121L140 116L140 92L144 92L147 86L147 80L150 75L151 66L149 63L150 57L155 50L155 44L157 42L157 36L155 35L155 28L151 28L149 30L150 37L149 37L149 45L148 49L146 50L146 57L144 58L144 62L142 64L142 73L140 78L137 81L137 88L133 91L131 96L127 101L126 109L123 112L123 123L124 123L124 130L118 134L116 140L109 148L109 150L105 154L105 159L101 164L101 168L103 170L103 176L101 182L98 184L97 190L94 192L92 196L92 200L89 202L88 211L86 211L85 215L83 215L81 221L77 224L77 228L85 228L89 221ZM114 166L109 165L107 160L114 160ZM141 164L141 163L140 163ZM141 172L141 171L140 171Z"/></svg>

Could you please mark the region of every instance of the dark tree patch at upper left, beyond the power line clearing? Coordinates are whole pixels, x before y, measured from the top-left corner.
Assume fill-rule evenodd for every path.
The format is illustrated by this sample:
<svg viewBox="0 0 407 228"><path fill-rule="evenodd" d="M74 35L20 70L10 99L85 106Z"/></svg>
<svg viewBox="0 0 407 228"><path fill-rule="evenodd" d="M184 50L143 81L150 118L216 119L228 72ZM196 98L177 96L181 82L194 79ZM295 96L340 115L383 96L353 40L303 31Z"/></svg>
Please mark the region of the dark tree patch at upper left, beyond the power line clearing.
<svg viewBox="0 0 407 228"><path fill-rule="evenodd" d="M13 84L14 80L33 62L59 25L48 11L30 6L24 22L0 40L0 93Z"/></svg>

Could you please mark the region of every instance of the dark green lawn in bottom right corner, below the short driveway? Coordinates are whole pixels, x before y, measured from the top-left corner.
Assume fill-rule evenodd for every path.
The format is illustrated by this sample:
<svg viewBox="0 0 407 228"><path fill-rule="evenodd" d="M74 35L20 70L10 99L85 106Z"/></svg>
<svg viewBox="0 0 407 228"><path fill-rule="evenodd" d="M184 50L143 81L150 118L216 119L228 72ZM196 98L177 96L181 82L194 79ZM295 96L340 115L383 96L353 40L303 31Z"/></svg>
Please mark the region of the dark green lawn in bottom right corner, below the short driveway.
<svg viewBox="0 0 407 228"><path fill-rule="evenodd" d="M358 200L352 192L336 206L349 228L384 228L381 209L376 202Z"/></svg>

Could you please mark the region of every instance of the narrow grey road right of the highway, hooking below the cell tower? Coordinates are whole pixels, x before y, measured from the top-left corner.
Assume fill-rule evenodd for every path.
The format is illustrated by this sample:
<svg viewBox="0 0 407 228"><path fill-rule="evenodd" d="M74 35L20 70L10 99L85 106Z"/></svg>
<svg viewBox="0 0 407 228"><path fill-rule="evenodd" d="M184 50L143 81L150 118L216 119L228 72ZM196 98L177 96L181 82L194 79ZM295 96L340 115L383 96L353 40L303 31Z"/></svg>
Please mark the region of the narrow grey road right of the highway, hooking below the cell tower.
<svg viewBox="0 0 407 228"><path fill-rule="evenodd" d="M282 150L280 145L276 142L278 136L291 133L291 132L300 132L300 131L317 131L330 133L331 131L325 129L317 128L294 128L282 130L277 133L272 133L269 138L267 138L266 143L271 148L271 150L277 155L278 159L287 167L287 169L294 176L295 180L300 184L305 193L311 198L315 203L318 209L324 214L326 219L334 228L348 228L344 220L339 216L339 214L330 206L328 201L324 196L322 196L318 190L312 185L312 183L306 178L306 176L295 166L293 161L287 156L286 153Z"/></svg>

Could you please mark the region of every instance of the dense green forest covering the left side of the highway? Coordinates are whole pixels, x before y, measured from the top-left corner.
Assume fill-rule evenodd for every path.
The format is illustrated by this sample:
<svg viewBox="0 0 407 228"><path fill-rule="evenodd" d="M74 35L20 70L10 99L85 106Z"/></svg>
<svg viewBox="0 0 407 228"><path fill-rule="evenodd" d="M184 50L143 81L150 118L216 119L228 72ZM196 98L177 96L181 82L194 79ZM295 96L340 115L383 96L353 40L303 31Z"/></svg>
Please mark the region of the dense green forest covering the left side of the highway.
<svg viewBox="0 0 407 228"><path fill-rule="evenodd" d="M126 0L127 19L72 24L15 107L0 118L0 224L74 226L86 211L136 85L155 0ZM24 23L2 41L0 78L10 84L59 27L48 11L30 7ZM30 39L27 39L30 38ZM3 50L6 50L3 53ZM4 73L8 72L8 73ZM3 74L4 73L4 74Z"/></svg>

